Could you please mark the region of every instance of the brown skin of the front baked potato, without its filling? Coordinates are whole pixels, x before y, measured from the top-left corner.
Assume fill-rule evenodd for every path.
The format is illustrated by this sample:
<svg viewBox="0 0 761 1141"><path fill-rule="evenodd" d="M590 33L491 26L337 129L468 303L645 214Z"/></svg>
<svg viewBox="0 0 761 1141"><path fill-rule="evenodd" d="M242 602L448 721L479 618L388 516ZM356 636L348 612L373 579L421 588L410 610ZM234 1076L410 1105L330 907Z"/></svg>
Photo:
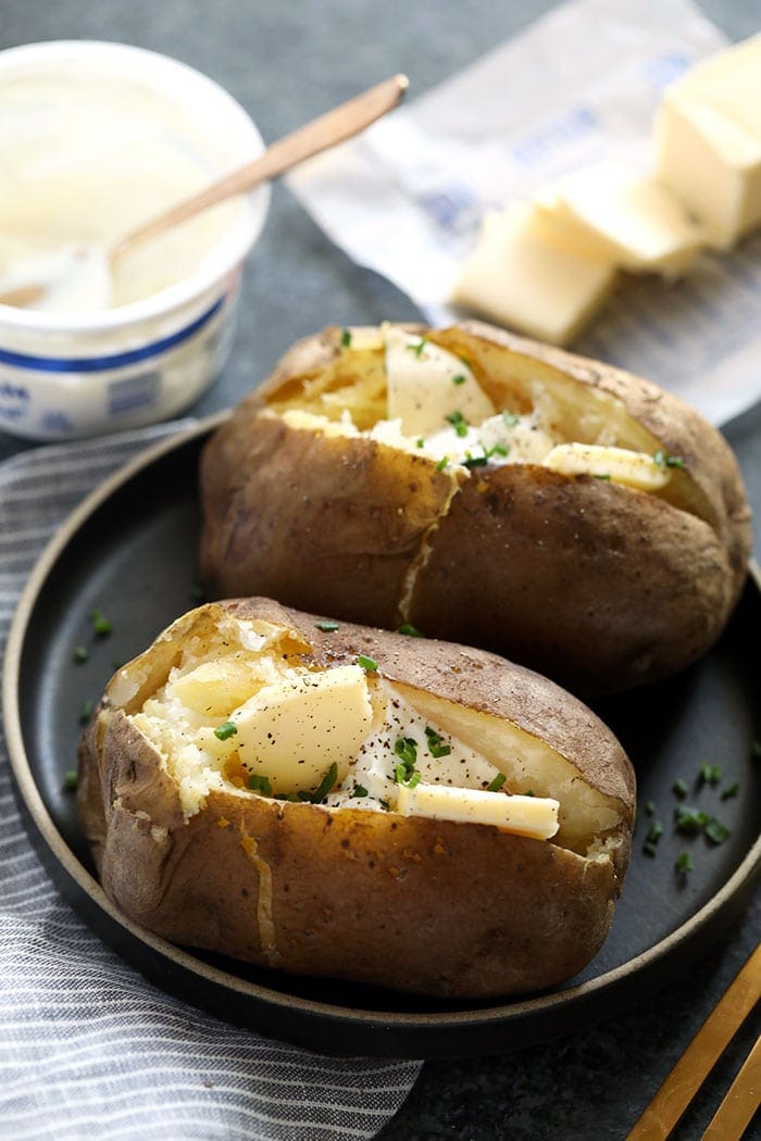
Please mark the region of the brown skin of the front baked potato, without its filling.
<svg viewBox="0 0 761 1141"><path fill-rule="evenodd" d="M106 892L165 938L290 973L452 998L523 994L572 977L602 944L629 860L634 778L621 745L581 702L531 671L468 647L343 624L266 599L192 612L141 655L141 701L173 647L222 608L283 622L305 661L372 655L384 677L541 730L610 796L609 858L487 825L212 792L184 818L152 744L106 690L80 745L78 800ZM148 663L146 670L146 663ZM129 672L135 663L127 666ZM152 672L153 669L153 672Z"/></svg>

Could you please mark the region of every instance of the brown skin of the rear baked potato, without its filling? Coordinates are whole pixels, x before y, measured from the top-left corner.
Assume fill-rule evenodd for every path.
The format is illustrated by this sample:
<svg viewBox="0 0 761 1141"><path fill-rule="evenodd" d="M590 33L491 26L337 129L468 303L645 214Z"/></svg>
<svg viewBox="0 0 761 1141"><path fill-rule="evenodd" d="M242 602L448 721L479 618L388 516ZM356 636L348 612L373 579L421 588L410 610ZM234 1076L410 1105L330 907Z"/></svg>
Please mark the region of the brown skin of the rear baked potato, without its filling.
<svg viewBox="0 0 761 1141"><path fill-rule="evenodd" d="M260 415L337 357L338 331L325 330L286 353L204 450L210 597L273 593L387 629L410 622L582 694L656 681L705 654L751 550L750 508L721 434L639 377L481 322L430 335L468 358L497 407L505 367L614 396L685 461L694 510L534 464L479 468L442 510L444 485L420 458Z"/></svg>

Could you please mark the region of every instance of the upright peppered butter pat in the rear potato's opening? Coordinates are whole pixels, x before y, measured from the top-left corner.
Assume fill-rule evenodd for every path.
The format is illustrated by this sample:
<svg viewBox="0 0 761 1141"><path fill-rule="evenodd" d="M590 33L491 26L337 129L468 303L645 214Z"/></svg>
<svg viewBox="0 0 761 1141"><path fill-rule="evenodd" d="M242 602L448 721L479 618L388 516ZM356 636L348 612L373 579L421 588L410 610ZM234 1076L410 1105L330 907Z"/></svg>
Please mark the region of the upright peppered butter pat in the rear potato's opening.
<svg viewBox="0 0 761 1141"><path fill-rule="evenodd" d="M454 353L390 325L384 341L388 419L400 420L405 435L440 431L456 413L468 423L494 415L470 366Z"/></svg>

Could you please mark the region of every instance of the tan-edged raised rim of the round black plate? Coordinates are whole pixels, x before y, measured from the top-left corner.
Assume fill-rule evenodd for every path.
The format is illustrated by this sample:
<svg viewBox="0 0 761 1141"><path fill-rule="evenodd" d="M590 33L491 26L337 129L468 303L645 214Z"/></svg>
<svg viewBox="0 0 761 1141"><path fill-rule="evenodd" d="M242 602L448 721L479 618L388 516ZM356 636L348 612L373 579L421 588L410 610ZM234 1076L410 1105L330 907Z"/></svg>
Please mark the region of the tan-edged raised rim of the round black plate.
<svg viewBox="0 0 761 1141"><path fill-rule="evenodd" d="M37 602L39 593L44 585L58 556L66 545L75 537L78 531L86 520L115 492L130 483L139 472L160 462L172 452L191 445L201 437L210 434L232 414L227 408L220 413L204 418L179 432L170 432L167 437L140 450L137 455L121 464L114 472L95 487L84 499L68 513L54 535L49 539L43 551L37 559L24 589L16 604L11 618L8 639L6 644L5 662L2 670L2 712L8 755L10 760L11 775L14 778L17 800L21 798L19 809L26 831L30 831L30 823L37 831L39 840L44 845L41 850L34 843L34 835L31 836L33 847L42 865L47 868L59 890L75 912L83 919L83 922L104 942L116 949L120 957L128 962L133 969L146 976L146 971L136 965L135 961L124 955L119 947L115 947L113 938L106 937L102 931L95 930L95 925L88 915L83 914L83 908L78 906L84 904L86 897L88 907L95 905L98 912L105 913L107 920L113 925L114 931L123 930L127 938L143 944L147 949L156 953L163 961L169 961L181 971L191 976L200 977L212 987L221 987L230 995L245 996L256 1003L262 1003L272 1009L275 1014L288 1009L292 1011L297 1006L303 1014L319 1018L329 1023L349 1023L351 1028L373 1033L377 1030L383 1037L386 1031L399 1031L405 1038L411 1039L411 1044L422 1045L426 1038L431 1035L456 1033L468 1027L472 1029L501 1029L507 1030L521 1018L532 1015L549 1015L559 1006L576 1006L580 1003L591 1003L600 1001L626 976L639 976L649 978L657 973L673 957L675 952L685 944L693 945L697 941L701 932L707 928L718 913L729 912L732 905L740 900L740 906L745 906L745 897L752 890L754 882L761 871L761 832L746 852L742 863L736 867L719 891L702 907L699 907L686 922L680 924L674 931L665 936L658 942L648 947L645 952L626 960L625 963L615 966L592 979L586 979L575 986L562 990L545 992L540 995L520 998L518 1001L502 1003L493 1006L480 1006L475 1010L456 1009L453 1011L390 1011L382 1012L366 1008L347 1008L329 1002L318 1002L301 995L293 995L288 992L272 989L261 984L225 971L205 961L196 957L192 952L185 950L175 944L169 942L160 936L147 931L123 915L119 908L106 896L98 881L88 872L84 865L76 858L66 840L55 825L48 807L34 779L29 755L24 743L24 735L21 725L21 709L18 701L21 681L21 661L24 649L29 620ZM748 583L761 592L761 569L754 559L748 564ZM747 585L746 585L747 589ZM46 859L52 857L52 864ZM56 871L63 872L65 876L64 885L59 882ZM68 889L68 890L66 890ZM72 890L74 898L72 898ZM152 981L155 981L152 979ZM161 982L155 982L161 988ZM178 994L176 988L163 987L164 990ZM193 1002L183 992L181 997L186 1002ZM410 996L411 1002L414 996ZM196 1003L196 1005L203 1005ZM222 1015L224 1017L224 1015ZM249 1026L245 1021L243 1025ZM256 1030L256 1026L249 1026ZM277 1036L277 1035L273 1035ZM418 1043L418 1038L420 1042ZM292 1035L284 1035L284 1039L302 1041ZM363 1043L367 1045L369 1043ZM502 1042L499 1046L503 1050L509 1043ZM353 1051L356 1053L356 1051ZM493 1051L492 1051L493 1052ZM400 1052L398 1042L395 1050L387 1052L374 1050L373 1053L383 1057L422 1057L420 1052ZM424 1052L423 1052L424 1053ZM432 1051L424 1053L424 1057L451 1058L459 1057L460 1051L452 1053L446 1051L440 1053Z"/></svg>

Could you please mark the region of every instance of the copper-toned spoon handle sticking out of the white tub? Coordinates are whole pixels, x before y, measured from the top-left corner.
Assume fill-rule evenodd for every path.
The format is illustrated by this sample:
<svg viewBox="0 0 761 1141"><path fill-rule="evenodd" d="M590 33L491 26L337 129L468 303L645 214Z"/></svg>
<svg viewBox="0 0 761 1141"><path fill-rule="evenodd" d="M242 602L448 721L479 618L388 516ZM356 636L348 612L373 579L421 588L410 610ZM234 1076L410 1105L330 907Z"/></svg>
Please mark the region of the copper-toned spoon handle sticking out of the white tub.
<svg viewBox="0 0 761 1141"><path fill-rule="evenodd" d="M353 135L357 135L381 115L391 111L404 96L407 84L406 75L392 75L362 95L334 107L333 111L329 111L310 123L298 128L291 135L273 143L253 162L241 167L232 175L214 183L213 186L194 194L165 213L126 234L112 249L112 265L127 253L131 253L136 246L159 237L160 234L178 222L192 218L218 202L224 202L225 199L277 178L284 171L303 162L305 159L310 159L313 155L319 154L321 151L326 151L337 143L342 143Z"/></svg>

